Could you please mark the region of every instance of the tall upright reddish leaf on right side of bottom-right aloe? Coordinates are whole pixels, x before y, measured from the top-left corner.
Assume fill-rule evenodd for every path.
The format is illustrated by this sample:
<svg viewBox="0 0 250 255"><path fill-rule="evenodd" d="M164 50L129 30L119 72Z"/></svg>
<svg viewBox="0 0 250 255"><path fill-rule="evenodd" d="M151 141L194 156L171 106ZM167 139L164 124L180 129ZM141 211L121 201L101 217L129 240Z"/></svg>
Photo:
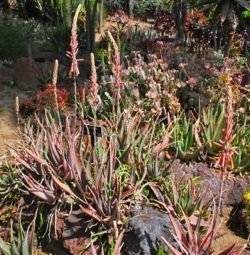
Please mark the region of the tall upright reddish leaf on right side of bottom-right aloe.
<svg viewBox="0 0 250 255"><path fill-rule="evenodd" d="M202 251L202 252L205 253L210 249L210 247L212 245L213 238L214 238L214 234L215 234L216 222L217 222L217 212L216 212L216 205L215 205L215 202L214 202L213 217L212 217L212 220L210 222L207 233L203 237L203 240L202 240L202 242L199 246L199 251Z"/></svg>

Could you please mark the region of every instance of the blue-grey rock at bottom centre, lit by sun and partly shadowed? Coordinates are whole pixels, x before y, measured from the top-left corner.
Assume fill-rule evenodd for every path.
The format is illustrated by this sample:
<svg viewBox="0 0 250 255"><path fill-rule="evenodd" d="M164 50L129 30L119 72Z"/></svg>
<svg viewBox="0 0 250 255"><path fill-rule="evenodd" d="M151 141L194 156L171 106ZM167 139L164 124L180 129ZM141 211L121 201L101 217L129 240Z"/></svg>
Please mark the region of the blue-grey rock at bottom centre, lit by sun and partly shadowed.
<svg viewBox="0 0 250 255"><path fill-rule="evenodd" d="M124 254L156 255L160 245L166 248L162 236L177 246L171 234L172 224L167 214L151 206L144 206L136 211L126 228Z"/></svg>

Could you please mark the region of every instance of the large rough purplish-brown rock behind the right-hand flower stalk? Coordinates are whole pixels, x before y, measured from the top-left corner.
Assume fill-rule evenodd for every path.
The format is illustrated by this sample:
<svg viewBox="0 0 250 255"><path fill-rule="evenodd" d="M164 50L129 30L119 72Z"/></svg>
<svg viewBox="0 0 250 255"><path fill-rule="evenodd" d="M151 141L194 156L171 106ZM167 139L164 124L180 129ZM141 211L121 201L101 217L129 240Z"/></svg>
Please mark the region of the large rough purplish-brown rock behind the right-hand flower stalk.
<svg viewBox="0 0 250 255"><path fill-rule="evenodd" d="M180 160L175 160L170 165L170 172L175 175L177 183L186 183L188 179L200 177L200 192L204 195L204 202L217 198L220 193L221 177L213 169L204 163L192 162L190 165L182 164ZM240 204L243 194L249 187L249 181L243 177L227 179L224 185L223 204L226 206Z"/></svg>

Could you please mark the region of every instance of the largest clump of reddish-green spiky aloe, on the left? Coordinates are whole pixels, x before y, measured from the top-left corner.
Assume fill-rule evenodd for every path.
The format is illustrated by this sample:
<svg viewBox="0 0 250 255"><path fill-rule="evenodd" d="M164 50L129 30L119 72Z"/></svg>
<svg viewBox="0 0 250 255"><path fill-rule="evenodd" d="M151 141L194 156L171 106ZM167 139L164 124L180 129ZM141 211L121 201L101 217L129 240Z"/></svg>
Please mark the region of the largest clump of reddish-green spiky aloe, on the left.
<svg viewBox="0 0 250 255"><path fill-rule="evenodd" d="M38 201L50 204L65 196L73 198L100 227L122 223L127 215L124 205L134 196L145 174L130 185L121 184L116 175L120 162L115 136L106 140L94 134L91 138L84 119L74 131L74 119L67 116L61 132L49 112L44 119L36 117L35 122L36 128L27 127L29 148L12 148L13 156L24 168L20 172L24 188Z"/></svg>

